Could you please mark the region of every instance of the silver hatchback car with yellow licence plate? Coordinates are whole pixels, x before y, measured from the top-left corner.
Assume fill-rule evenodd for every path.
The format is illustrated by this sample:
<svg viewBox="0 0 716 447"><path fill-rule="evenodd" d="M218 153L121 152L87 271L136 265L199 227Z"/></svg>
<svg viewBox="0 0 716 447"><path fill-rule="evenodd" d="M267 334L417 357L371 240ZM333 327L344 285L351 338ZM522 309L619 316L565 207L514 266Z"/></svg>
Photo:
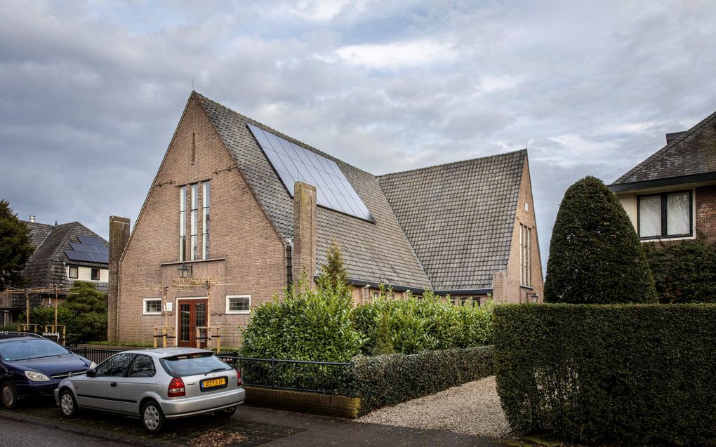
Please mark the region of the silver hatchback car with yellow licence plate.
<svg viewBox="0 0 716 447"><path fill-rule="evenodd" d="M127 350L62 380L54 400L67 418L84 409L138 416L159 433L166 419L230 417L246 398L241 385L241 375L208 350Z"/></svg>

